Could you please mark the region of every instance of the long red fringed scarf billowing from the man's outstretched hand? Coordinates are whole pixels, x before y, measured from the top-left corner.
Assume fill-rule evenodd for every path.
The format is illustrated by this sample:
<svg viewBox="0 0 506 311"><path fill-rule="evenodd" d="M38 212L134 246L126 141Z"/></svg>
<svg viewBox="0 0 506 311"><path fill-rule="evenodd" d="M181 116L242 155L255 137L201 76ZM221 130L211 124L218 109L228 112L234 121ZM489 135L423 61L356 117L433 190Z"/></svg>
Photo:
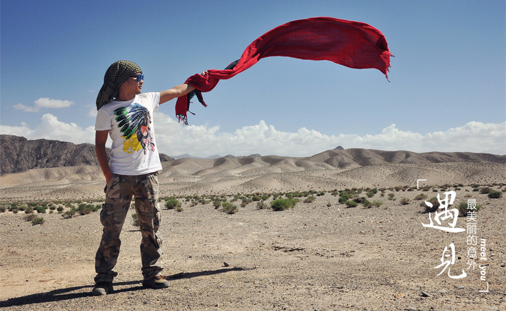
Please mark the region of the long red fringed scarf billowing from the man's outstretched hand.
<svg viewBox="0 0 506 311"><path fill-rule="evenodd" d="M206 106L200 92L213 90L219 80L230 79L260 59L271 56L328 60L356 69L375 68L387 76L393 55L383 33L368 24L331 17L291 21L257 38L239 60L224 70L213 69L204 76L195 74L189 77L185 83L196 90L178 98L176 116L188 124L186 112L194 95Z"/></svg>

